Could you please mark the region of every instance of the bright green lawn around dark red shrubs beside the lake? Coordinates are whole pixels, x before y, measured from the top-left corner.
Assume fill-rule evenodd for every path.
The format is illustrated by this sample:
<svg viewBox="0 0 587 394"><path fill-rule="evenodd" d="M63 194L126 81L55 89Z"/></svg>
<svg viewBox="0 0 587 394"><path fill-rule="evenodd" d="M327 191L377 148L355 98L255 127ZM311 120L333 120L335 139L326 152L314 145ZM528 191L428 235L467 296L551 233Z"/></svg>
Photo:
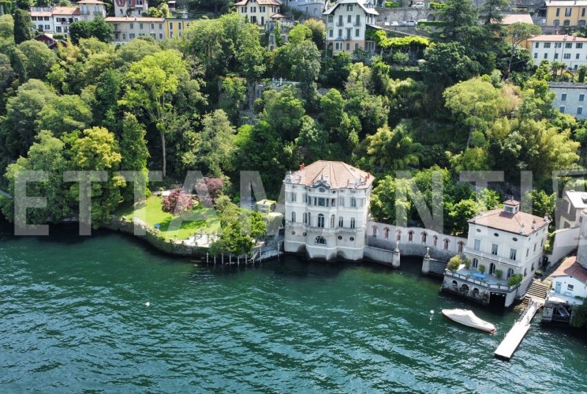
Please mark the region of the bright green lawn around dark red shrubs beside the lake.
<svg viewBox="0 0 587 394"><path fill-rule="evenodd" d="M198 205L191 213L182 216L184 221L174 222L173 220L180 218L180 216L163 212L161 200L160 196L151 196L146 201L135 204L134 207L118 209L116 214L127 221L132 221L135 217L141 218L146 214L146 223L152 228L156 223L159 223L161 234L166 239L187 239L196 232L220 232L220 221L218 221L214 209Z"/></svg>

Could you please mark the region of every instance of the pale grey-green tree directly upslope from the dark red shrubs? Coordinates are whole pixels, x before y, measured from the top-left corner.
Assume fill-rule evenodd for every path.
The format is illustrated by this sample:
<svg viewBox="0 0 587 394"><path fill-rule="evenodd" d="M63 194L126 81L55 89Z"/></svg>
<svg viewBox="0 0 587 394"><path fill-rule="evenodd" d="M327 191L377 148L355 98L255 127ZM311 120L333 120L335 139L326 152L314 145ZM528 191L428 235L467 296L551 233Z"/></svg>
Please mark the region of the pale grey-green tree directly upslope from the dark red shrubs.
<svg viewBox="0 0 587 394"><path fill-rule="evenodd" d="M219 178L231 169L236 131L222 109L204 115L202 126L195 152L196 163L205 175Z"/></svg>

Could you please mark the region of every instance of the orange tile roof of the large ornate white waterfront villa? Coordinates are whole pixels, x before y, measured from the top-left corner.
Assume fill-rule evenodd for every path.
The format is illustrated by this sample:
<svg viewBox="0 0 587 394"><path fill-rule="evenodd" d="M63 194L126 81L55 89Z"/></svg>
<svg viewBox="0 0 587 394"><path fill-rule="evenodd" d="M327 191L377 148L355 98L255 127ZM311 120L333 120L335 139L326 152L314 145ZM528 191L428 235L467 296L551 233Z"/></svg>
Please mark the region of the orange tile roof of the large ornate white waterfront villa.
<svg viewBox="0 0 587 394"><path fill-rule="evenodd" d="M318 160L300 169L286 179L289 183L314 187L323 182L331 189L368 189L375 179L370 173L356 169L345 162Z"/></svg>

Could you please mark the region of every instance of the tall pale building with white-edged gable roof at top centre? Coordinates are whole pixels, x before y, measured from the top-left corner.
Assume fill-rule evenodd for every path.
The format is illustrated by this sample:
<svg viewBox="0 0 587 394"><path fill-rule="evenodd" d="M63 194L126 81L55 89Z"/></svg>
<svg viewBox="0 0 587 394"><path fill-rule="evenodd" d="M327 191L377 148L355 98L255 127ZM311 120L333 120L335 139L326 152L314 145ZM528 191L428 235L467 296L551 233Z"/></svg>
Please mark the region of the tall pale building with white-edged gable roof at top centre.
<svg viewBox="0 0 587 394"><path fill-rule="evenodd" d="M367 40L367 25L374 23L378 12L362 0L338 0L324 12L326 18L326 46L332 53L353 53L357 49L369 53L375 50L375 41Z"/></svg>

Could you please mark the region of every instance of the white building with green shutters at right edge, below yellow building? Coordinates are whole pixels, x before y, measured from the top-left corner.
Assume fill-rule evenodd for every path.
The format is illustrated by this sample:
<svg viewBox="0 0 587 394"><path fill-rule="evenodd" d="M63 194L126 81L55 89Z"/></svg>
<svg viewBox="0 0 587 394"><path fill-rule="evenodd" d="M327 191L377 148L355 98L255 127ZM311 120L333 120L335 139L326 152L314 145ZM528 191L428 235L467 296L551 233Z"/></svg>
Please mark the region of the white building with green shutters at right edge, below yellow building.
<svg viewBox="0 0 587 394"><path fill-rule="evenodd" d="M526 48L537 66L543 60L563 62L568 70L587 65L587 38L576 35L538 35L528 39Z"/></svg>

